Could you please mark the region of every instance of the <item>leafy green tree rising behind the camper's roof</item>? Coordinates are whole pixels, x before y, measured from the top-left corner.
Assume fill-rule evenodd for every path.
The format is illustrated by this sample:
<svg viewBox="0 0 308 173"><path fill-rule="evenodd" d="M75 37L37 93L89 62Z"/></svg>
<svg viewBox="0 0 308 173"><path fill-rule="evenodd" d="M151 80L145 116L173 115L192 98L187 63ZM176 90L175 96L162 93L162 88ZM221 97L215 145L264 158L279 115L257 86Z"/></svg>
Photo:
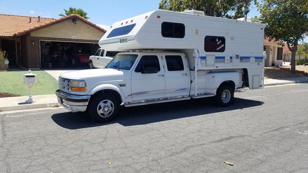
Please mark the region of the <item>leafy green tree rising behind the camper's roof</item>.
<svg viewBox="0 0 308 173"><path fill-rule="evenodd" d="M161 0L159 9L170 11L199 10L205 15L240 18L249 12L251 2L258 4L257 0Z"/></svg>

